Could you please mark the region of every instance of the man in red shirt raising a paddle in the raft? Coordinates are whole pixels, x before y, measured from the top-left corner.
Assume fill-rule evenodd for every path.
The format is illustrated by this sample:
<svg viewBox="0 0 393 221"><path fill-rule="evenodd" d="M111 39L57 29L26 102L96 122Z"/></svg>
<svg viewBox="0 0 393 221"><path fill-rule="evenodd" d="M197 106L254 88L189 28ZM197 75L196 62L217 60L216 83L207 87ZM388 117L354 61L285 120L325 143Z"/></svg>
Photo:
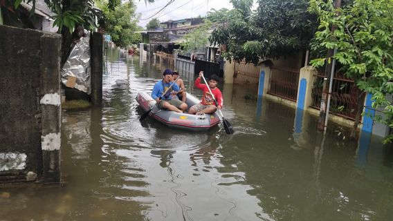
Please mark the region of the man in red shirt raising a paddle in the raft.
<svg viewBox="0 0 393 221"><path fill-rule="evenodd" d="M202 101L199 104L195 104L190 108L188 113L193 115L201 115L202 113L214 113L217 108L221 110L223 106L223 97L221 90L217 88L217 83L219 82L219 77L217 75L212 75L208 81L208 85L201 84L201 79L203 76L203 71L199 72L199 77L195 80L195 86L203 90ZM209 88L212 91L210 94ZM214 96L214 97L213 97ZM214 102L217 101L217 106Z"/></svg>

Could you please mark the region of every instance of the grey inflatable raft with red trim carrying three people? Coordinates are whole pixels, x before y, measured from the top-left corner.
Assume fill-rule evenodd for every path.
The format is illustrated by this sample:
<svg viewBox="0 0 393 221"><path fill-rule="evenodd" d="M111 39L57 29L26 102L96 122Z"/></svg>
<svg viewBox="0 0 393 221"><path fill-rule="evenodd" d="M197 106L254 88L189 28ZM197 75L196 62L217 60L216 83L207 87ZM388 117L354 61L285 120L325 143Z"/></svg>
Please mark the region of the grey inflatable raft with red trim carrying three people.
<svg viewBox="0 0 393 221"><path fill-rule="evenodd" d="M158 122L162 122L171 128L179 128L188 131L207 131L208 129L217 126L221 119L217 113L204 115L190 115L188 113L176 113L174 111L161 110L156 106L156 101L148 93L140 92L135 97L136 102L145 111L150 111L149 115ZM200 102L197 97L187 93L188 108Z"/></svg>

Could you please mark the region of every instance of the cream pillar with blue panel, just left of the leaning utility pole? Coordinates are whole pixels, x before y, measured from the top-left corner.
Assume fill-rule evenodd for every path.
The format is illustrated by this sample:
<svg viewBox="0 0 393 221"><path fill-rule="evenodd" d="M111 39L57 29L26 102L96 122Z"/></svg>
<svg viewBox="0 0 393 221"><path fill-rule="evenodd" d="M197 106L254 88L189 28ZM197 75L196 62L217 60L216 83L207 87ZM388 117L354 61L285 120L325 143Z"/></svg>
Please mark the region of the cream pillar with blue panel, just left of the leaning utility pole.
<svg viewBox="0 0 393 221"><path fill-rule="evenodd" d="M311 90L314 83L315 68L306 66L300 69L297 108L307 110L312 102Z"/></svg>

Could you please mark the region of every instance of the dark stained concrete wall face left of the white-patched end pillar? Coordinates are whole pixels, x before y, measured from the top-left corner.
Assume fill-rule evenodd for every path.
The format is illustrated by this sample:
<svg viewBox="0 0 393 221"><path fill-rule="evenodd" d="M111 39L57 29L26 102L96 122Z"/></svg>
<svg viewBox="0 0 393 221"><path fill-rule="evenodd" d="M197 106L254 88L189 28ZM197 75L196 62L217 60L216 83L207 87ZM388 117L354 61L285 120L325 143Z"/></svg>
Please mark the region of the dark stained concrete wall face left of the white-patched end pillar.
<svg viewBox="0 0 393 221"><path fill-rule="evenodd" d="M10 26L0 33L0 184L31 182L42 177L42 33Z"/></svg>

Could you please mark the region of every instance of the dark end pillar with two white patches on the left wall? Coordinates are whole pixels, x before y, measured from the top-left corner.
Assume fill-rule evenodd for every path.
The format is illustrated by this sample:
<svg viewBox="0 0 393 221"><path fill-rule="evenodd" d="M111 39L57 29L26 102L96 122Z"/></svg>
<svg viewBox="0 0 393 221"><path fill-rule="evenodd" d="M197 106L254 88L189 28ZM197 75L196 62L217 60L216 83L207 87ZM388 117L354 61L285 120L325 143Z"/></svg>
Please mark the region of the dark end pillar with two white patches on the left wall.
<svg viewBox="0 0 393 221"><path fill-rule="evenodd" d="M41 99L42 110L42 179L44 182L60 182L60 35L46 33L41 37Z"/></svg>

